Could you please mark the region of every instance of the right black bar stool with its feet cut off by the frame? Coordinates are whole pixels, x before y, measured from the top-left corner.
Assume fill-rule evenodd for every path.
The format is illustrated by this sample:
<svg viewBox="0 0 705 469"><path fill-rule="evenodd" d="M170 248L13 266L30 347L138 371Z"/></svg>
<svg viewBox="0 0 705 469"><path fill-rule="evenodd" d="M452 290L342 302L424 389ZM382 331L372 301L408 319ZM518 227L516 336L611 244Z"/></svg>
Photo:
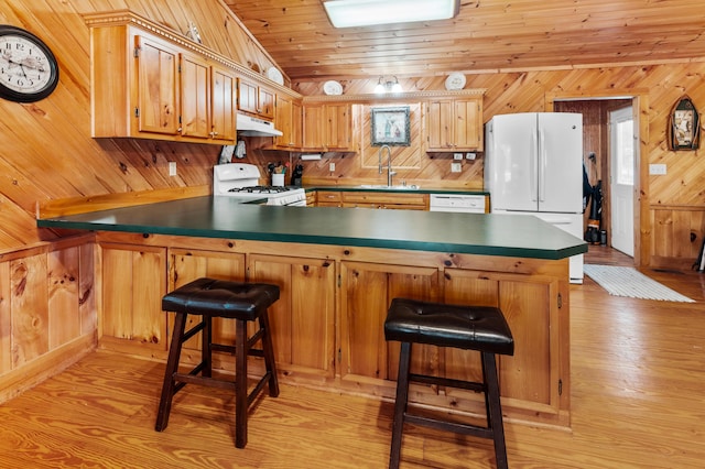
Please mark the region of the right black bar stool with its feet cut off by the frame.
<svg viewBox="0 0 705 469"><path fill-rule="evenodd" d="M401 342L389 467L399 468L402 433L404 423L408 422L441 430L492 439L497 467L508 468L495 355L513 355L514 340L502 312L495 307L446 305L394 298L384 321L384 337L387 340ZM482 358L484 382L411 373L412 343L478 350ZM487 426L448 422L410 413L406 408L410 382L484 392Z"/></svg>

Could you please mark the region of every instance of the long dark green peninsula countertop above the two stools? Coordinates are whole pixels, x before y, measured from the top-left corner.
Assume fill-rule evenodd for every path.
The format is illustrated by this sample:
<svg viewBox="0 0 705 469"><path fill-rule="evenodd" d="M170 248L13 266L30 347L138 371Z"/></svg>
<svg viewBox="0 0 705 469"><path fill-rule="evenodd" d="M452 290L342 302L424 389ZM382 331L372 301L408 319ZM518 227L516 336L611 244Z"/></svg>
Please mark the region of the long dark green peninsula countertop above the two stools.
<svg viewBox="0 0 705 469"><path fill-rule="evenodd" d="M37 220L39 227L564 259L587 244L535 217L276 207L195 197Z"/></svg>

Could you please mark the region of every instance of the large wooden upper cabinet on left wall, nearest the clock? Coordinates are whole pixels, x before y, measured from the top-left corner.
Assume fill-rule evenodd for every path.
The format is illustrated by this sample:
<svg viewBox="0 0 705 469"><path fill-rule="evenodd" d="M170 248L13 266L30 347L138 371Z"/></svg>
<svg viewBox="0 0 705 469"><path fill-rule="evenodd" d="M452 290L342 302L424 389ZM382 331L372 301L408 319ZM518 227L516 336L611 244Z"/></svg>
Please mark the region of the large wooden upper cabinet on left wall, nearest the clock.
<svg viewBox="0 0 705 469"><path fill-rule="evenodd" d="M236 65L203 47L172 41L167 33L102 15L95 21L94 138L235 144Z"/></svg>

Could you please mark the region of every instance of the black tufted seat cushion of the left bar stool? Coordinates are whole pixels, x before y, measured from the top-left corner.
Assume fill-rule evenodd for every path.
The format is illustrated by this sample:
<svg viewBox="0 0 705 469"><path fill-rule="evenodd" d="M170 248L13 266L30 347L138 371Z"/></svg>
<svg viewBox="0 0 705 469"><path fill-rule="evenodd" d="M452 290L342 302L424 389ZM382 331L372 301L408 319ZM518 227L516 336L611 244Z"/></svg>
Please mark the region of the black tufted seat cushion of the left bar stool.
<svg viewBox="0 0 705 469"><path fill-rule="evenodd" d="M254 320L258 312L278 299L276 285L203 277L166 294L162 298L162 309Z"/></svg>

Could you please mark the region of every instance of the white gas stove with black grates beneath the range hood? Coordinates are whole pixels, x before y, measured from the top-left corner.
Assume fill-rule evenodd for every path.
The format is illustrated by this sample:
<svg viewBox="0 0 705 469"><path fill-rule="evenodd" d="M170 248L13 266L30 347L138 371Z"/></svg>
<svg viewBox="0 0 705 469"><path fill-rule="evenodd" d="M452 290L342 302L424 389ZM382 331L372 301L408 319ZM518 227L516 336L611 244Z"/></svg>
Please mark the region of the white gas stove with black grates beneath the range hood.
<svg viewBox="0 0 705 469"><path fill-rule="evenodd" d="M260 170L248 163L217 164L213 167L213 195L242 201L267 199L267 205L305 207L306 193L295 186L260 184Z"/></svg>

